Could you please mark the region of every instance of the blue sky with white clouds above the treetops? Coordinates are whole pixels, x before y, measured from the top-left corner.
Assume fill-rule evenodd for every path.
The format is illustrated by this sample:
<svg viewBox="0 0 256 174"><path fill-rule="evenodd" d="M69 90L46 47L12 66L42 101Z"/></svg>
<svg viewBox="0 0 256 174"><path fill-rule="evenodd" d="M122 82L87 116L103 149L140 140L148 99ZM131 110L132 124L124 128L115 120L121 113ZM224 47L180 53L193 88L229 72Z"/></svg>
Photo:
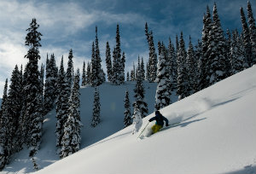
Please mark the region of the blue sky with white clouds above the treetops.
<svg viewBox="0 0 256 174"><path fill-rule="evenodd" d="M246 0L216 0L218 14L224 31L241 31L240 7L246 9ZM108 41L113 50L116 25L119 24L121 49L125 51L125 70L130 70L132 62L141 55L148 61L148 45L144 35L144 25L148 22L154 32L154 42L168 37L175 41L176 34L183 31L186 45L191 35L193 43L201 38L202 16L207 4L211 12L213 0L0 0L0 96L3 95L5 78L17 64L26 64L27 48L24 45L26 28L32 18L38 20L42 37L40 63L46 54L55 54L60 65L61 55L67 65L69 49L73 49L74 66L82 68L83 61L90 61L91 44L95 39L95 26L105 66L105 47ZM255 16L256 2L251 1ZM246 12L247 14L247 12ZM256 18L256 17L255 17ZM111 50L111 51L112 51ZM67 67L67 66L66 66Z"/></svg>

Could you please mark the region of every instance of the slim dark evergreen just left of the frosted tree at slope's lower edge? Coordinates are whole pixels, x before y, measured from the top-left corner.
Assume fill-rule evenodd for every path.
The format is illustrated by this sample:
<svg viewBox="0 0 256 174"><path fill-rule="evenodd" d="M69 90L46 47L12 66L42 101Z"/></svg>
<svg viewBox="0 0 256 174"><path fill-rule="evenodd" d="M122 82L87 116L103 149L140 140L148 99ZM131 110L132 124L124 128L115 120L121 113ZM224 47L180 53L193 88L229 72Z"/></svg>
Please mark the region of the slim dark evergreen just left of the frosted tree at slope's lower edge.
<svg viewBox="0 0 256 174"><path fill-rule="evenodd" d="M60 153L62 144L62 136L64 135L64 124L67 121L68 117L68 108L69 108L69 93L70 93L70 86L67 81L67 73L64 71L63 67L63 56L61 58L61 67L59 69L58 75L58 89L60 91L57 100L56 100L56 147L57 152Z"/></svg>

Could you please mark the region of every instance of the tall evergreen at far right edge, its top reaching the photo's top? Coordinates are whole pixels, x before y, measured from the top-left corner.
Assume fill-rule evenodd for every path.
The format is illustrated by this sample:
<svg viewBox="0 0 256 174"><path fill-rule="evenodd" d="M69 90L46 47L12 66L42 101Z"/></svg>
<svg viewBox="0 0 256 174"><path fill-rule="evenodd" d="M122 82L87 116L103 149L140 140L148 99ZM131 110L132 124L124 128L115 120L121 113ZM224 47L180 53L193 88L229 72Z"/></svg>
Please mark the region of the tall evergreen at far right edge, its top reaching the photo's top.
<svg viewBox="0 0 256 174"><path fill-rule="evenodd" d="M247 1L247 19L249 24L250 40L252 45L252 64L256 64L256 26L250 1Z"/></svg>

